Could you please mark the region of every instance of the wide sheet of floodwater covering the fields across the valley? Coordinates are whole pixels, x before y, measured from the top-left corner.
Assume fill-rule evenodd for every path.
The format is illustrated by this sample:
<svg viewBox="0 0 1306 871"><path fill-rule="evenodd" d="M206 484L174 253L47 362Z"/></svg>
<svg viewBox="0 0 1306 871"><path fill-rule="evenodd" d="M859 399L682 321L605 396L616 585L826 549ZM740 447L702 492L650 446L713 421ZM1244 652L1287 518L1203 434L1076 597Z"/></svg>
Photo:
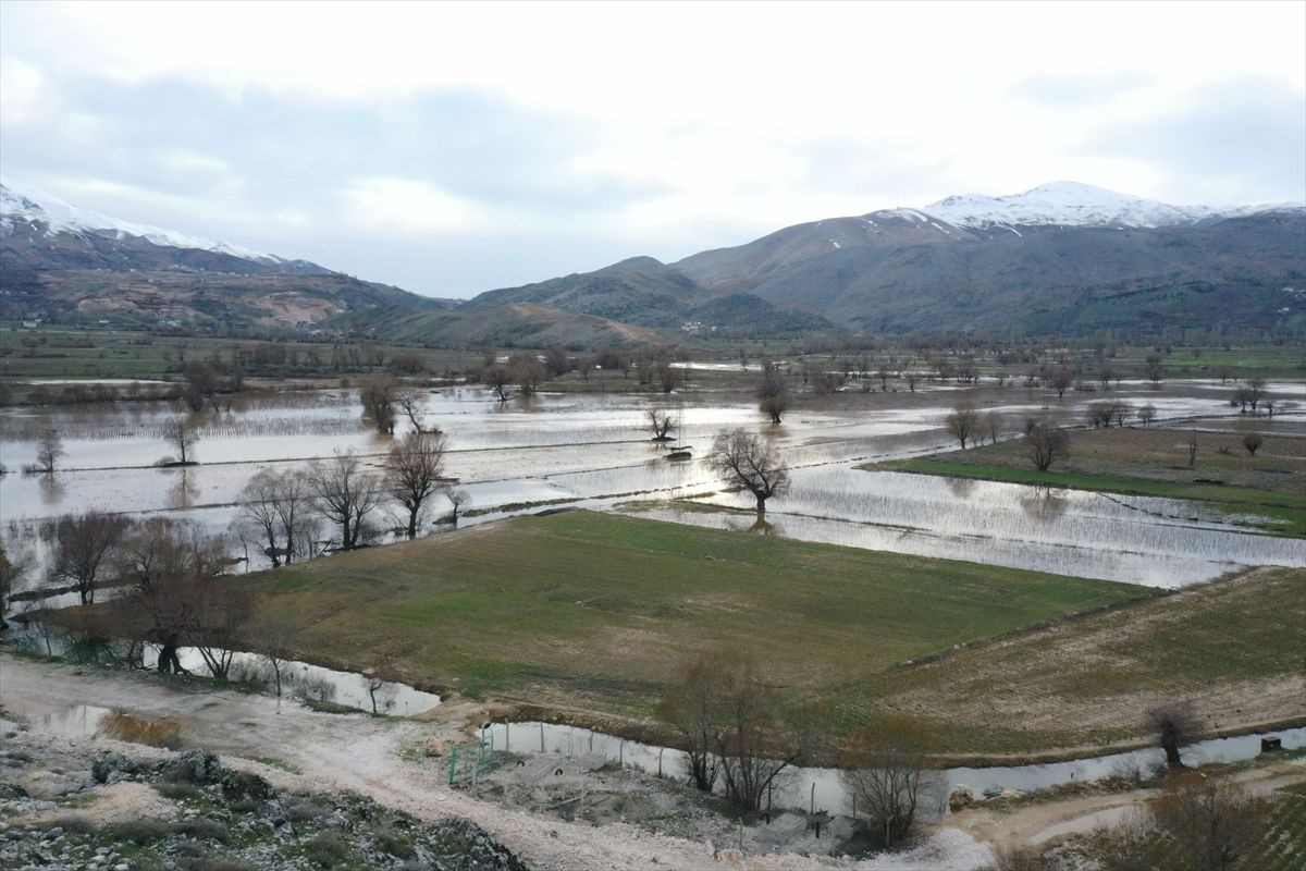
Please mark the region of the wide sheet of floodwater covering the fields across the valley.
<svg viewBox="0 0 1306 871"><path fill-rule="evenodd" d="M910 397L878 394L859 411L838 402L829 410L797 410L780 427L769 426L751 398L727 402L692 390L683 397L546 393L500 404L479 388L447 388L427 393L423 423L448 437L447 474L470 496L473 513L465 524L576 505L747 529L752 520L731 511L666 507L679 498L722 509L748 500L717 492L701 460L665 458L646 426L648 411L662 409L678 424L677 441L696 457L718 431L733 427L756 428L774 440L793 467L793 488L769 505L772 534L1153 586L1182 586L1242 565L1306 563L1306 543L1241 531L1192 503L854 469L951 447L940 428L955 401L948 388L927 384ZM1173 392L1140 388L1110 396L1152 404L1162 418L1228 415L1232 422L1230 389L1186 384ZM990 389L987 396L995 394ZM1012 419L1037 413L1047 400L1015 387L998 396L1004 397L998 410ZM1058 410L1077 419L1096 398L1067 393ZM239 398L230 411L193 418L200 465L155 467L168 456L162 424L178 414L158 402L0 411L0 462L10 470L0 477L5 543L27 539L42 558L44 547L34 535L40 521L88 509L161 513L226 531L239 513L242 488L257 471L303 466L346 449L379 467L390 444L360 419L353 392L289 393ZM64 437L61 470L52 477L13 471L33 462L34 439L50 428ZM400 432L405 428L406 422ZM426 531L447 529L434 521L447 511L438 498ZM390 529L398 518L383 515L375 522ZM253 554L248 567L261 564ZM40 572L27 581L39 582Z"/></svg>

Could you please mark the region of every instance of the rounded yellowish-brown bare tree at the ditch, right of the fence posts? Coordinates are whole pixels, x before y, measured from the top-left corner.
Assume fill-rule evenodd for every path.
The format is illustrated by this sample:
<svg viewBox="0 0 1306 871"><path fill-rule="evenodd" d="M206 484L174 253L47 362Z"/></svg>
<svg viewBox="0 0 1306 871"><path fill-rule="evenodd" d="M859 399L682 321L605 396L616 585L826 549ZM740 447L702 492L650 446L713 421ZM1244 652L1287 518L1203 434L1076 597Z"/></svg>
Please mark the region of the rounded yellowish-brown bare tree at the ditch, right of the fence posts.
<svg viewBox="0 0 1306 871"><path fill-rule="evenodd" d="M942 772L929 767L938 736L908 717L883 717L849 742L842 772L857 806L865 808L870 834L884 847L910 836L917 810L940 799Z"/></svg>

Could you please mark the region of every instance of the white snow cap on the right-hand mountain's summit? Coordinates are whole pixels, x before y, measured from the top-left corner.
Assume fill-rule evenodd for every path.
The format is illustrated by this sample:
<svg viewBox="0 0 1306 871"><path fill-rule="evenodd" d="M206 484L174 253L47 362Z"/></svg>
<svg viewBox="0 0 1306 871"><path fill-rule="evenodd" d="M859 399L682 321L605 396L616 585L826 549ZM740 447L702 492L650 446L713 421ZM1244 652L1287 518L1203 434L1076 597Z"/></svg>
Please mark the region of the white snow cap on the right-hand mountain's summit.
<svg viewBox="0 0 1306 871"><path fill-rule="evenodd" d="M991 226L1059 227L1173 227L1215 217L1252 214L1276 206L1216 209L1204 205L1177 206L1157 200L1117 193L1079 182L1053 182L1011 196L951 196L922 209L952 225L974 229Z"/></svg>

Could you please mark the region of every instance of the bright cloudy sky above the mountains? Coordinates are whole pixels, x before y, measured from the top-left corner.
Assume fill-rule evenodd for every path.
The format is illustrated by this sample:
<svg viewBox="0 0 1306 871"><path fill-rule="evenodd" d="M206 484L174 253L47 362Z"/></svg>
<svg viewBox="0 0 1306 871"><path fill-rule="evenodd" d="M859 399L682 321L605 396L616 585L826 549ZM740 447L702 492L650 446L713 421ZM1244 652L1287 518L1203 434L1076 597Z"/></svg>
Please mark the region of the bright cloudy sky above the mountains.
<svg viewBox="0 0 1306 871"><path fill-rule="evenodd" d="M1074 179L1306 198L1306 3L0 3L0 170L469 296Z"/></svg>

